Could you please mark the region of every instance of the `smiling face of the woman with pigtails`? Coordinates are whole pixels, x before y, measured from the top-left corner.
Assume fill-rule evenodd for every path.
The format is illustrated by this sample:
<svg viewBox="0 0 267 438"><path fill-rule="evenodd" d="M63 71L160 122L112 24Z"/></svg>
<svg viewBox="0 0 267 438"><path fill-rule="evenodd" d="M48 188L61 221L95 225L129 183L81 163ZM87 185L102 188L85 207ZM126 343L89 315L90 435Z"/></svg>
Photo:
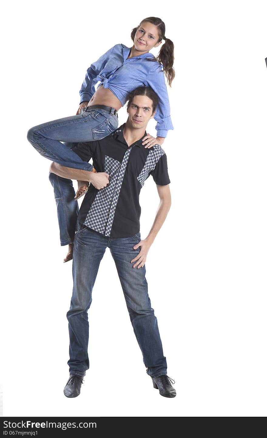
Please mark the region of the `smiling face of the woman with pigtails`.
<svg viewBox="0 0 267 438"><path fill-rule="evenodd" d="M157 26L149 21L142 23L135 33L134 46L141 53L149 52L153 47L161 44L159 41L159 32Z"/></svg>

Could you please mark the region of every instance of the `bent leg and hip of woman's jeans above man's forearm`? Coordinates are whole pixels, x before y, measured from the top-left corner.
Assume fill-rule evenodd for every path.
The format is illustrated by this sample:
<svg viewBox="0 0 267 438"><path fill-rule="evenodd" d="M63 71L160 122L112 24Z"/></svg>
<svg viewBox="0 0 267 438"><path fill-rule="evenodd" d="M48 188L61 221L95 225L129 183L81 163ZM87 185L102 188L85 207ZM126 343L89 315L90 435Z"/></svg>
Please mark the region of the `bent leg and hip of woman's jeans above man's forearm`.
<svg viewBox="0 0 267 438"><path fill-rule="evenodd" d="M76 116L52 120L29 129L27 138L39 154L45 158L74 169L92 170L93 166L82 159L62 142L100 140L118 127L118 119L104 109L86 110Z"/></svg>

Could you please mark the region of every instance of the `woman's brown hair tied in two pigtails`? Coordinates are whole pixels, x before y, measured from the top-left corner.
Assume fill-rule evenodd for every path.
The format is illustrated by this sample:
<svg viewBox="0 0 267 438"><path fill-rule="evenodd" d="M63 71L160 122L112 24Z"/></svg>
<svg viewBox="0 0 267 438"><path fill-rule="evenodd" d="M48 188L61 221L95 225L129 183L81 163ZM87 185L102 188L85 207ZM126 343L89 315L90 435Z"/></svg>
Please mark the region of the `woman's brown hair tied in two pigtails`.
<svg viewBox="0 0 267 438"><path fill-rule="evenodd" d="M148 17L141 21L139 26L132 29L131 38L134 41L135 33L139 29L139 27L145 23L145 22L152 23L153 25L157 26L159 31L159 41L162 41L164 39L165 43L161 46L160 52L157 56L157 61L163 65L163 70L165 73L165 76L167 78L168 84L171 87L171 82L174 79L175 72L173 68L173 62L174 62L174 44L173 42L165 37L165 24L164 22L158 18L158 17Z"/></svg>

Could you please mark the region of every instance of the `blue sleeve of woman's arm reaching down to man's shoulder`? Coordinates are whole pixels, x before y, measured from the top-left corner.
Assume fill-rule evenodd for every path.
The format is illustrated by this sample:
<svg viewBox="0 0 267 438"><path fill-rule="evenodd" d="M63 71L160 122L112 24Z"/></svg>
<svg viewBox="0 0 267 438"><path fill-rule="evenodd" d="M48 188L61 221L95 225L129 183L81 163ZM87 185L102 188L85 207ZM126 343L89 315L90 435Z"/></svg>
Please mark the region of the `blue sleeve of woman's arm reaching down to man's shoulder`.
<svg viewBox="0 0 267 438"><path fill-rule="evenodd" d="M155 63L156 64L156 63ZM159 97L154 119L157 121L156 130L158 137L167 137L169 129L174 129L171 122L171 109L169 96L165 84L164 71L162 66L157 63L147 78L147 84L153 88Z"/></svg>

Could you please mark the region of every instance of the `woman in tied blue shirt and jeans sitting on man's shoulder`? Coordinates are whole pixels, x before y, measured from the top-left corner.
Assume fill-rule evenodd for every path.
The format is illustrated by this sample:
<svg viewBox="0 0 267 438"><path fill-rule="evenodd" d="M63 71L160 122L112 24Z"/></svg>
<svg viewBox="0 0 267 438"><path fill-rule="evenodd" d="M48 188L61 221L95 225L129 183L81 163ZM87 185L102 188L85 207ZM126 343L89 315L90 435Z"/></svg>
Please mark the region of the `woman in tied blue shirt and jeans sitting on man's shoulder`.
<svg viewBox="0 0 267 438"><path fill-rule="evenodd" d="M71 150L77 142L99 140L118 127L117 111L126 102L129 91L140 85L153 88L159 96L155 114L157 137L147 134L142 144L146 148L162 145L167 131L173 129L164 74L171 86L174 78L174 45L165 37L165 24L160 18L149 17L132 30L133 46L117 44L93 63L87 70L80 90L80 106L75 116L53 120L28 131L28 141L36 150L63 166L93 170L93 166ZM162 44L155 58L150 50ZM94 85L100 81L95 91ZM62 142L67 142L63 144ZM69 245L67 257L72 258L78 203L71 180L50 173L57 202L61 245ZM88 183L87 183L88 184ZM78 181L75 199L85 194L87 184Z"/></svg>

